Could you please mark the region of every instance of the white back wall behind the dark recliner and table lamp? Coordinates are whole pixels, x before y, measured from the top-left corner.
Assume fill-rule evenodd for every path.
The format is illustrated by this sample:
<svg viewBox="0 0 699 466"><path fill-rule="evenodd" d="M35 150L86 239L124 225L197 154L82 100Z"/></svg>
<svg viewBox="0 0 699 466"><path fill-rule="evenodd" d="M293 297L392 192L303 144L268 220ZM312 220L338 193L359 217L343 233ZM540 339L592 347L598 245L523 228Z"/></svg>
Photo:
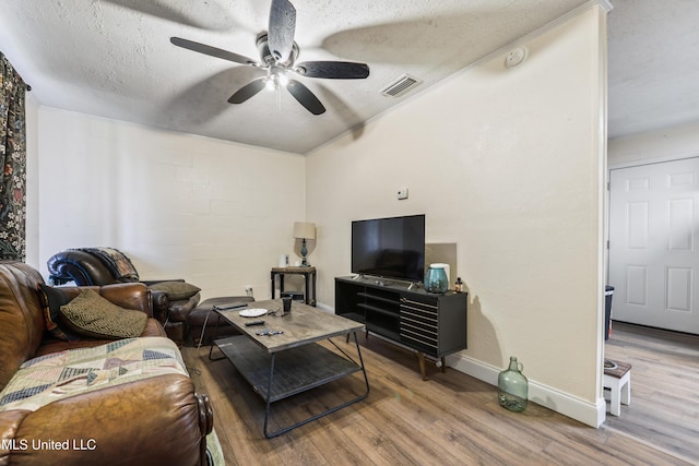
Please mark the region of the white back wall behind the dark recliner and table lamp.
<svg viewBox="0 0 699 466"><path fill-rule="evenodd" d="M42 107L39 270L72 247L125 251L144 279L203 298L270 296L305 217L303 157Z"/></svg>

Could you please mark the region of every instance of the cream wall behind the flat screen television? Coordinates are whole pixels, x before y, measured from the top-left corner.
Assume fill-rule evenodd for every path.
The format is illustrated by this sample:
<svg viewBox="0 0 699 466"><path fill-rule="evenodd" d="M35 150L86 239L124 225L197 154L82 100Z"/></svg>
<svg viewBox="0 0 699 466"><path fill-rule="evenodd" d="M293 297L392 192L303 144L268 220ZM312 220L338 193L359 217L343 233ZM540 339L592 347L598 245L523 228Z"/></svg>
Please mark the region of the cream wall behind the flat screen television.
<svg viewBox="0 0 699 466"><path fill-rule="evenodd" d="M491 381L518 356L536 402L597 425L605 43L593 7L529 41L519 68L497 56L308 156L320 302L350 273L351 220L425 213L470 292L455 365Z"/></svg>

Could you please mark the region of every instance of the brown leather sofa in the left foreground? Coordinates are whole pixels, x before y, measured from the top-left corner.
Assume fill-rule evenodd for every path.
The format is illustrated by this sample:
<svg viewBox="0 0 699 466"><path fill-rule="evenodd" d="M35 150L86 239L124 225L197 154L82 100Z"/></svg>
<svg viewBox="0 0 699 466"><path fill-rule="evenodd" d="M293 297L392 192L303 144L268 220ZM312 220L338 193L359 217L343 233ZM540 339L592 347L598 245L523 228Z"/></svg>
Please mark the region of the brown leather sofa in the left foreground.
<svg viewBox="0 0 699 466"><path fill-rule="evenodd" d="M12 386L16 374L27 367L31 370L34 361L56 357L56 351L120 346L112 339L54 338L46 330L37 292L40 283L33 267L0 261L0 391ZM67 294L81 289L61 288ZM143 284L92 289L121 308L152 315L151 294ZM130 340L161 342L179 355L177 346L163 336L162 325L149 318L141 337ZM80 351L84 350L63 355ZM38 356L44 358L32 359ZM29 359L28 366L22 366ZM157 372L143 380L58 396L33 409L0 408L0 465L205 465L205 435L212 426L209 399L196 393L189 377Z"/></svg>

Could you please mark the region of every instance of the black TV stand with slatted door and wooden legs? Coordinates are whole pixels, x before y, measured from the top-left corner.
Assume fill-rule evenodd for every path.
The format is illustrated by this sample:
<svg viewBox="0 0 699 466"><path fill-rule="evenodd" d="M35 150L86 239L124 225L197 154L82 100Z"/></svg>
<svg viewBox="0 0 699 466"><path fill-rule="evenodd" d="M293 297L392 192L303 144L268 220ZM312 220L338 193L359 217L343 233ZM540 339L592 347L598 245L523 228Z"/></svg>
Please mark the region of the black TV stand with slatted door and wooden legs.
<svg viewBox="0 0 699 466"><path fill-rule="evenodd" d="M417 351L427 380L425 355L438 358L466 348L466 294L433 295L407 283L336 277L335 313L366 324L369 332Z"/></svg>

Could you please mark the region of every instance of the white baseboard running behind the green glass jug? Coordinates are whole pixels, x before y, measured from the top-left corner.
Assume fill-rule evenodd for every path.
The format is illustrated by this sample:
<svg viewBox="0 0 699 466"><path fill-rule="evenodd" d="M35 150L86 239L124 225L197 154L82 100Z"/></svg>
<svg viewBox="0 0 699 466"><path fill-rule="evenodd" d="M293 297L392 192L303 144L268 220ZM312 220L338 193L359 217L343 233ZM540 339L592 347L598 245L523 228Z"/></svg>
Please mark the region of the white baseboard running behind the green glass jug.
<svg viewBox="0 0 699 466"><path fill-rule="evenodd" d="M447 366L494 386L498 385L498 374L502 370L463 355L448 356L446 362ZM529 380L529 399L594 428L599 428L606 418L604 398L597 399L597 403L585 402L532 380Z"/></svg>

